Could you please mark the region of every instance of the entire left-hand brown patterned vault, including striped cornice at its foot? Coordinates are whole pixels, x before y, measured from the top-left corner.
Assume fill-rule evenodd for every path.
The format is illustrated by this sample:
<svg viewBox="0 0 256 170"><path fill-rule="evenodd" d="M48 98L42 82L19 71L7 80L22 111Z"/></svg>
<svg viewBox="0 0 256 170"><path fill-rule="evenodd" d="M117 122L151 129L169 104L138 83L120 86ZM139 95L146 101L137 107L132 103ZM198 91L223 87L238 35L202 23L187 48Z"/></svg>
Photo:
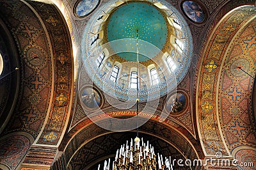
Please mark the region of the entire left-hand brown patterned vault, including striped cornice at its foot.
<svg viewBox="0 0 256 170"><path fill-rule="evenodd" d="M29 155L33 157L26 157L24 163L50 166L56 149L44 150L44 147L56 148L61 141L72 100L72 53L68 29L53 4L6 1L1 7L1 15L5 15L6 25L19 49L22 80L19 103L3 133L22 131L33 135L35 143L29 149ZM24 154L26 151L20 152L22 157ZM45 158L45 155L49 157ZM8 155L3 157L8 158Z"/></svg>

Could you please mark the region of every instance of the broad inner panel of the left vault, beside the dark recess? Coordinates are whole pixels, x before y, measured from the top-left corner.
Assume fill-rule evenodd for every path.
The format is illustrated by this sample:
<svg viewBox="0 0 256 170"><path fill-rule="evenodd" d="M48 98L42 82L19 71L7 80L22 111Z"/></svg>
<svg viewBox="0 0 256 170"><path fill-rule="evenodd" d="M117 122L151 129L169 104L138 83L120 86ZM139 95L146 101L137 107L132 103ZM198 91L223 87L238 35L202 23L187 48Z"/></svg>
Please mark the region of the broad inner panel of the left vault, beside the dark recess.
<svg viewBox="0 0 256 170"><path fill-rule="evenodd" d="M4 134L24 131L36 137L51 95L51 50L35 14L20 1L1 4L1 15L19 50L20 92Z"/></svg>

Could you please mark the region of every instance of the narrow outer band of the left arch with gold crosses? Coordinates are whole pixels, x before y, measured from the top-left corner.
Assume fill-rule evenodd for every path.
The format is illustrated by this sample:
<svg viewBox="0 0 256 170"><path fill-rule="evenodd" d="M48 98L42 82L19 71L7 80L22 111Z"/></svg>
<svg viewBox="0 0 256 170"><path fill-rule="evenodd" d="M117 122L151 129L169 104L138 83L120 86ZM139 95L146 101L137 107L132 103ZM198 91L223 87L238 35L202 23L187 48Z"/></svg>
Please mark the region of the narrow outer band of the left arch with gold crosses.
<svg viewBox="0 0 256 170"><path fill-rule="evenodd" d="M36 144L56 146L65 132L66 120L73 87L71 39L63 17L53 4L29 2L41 19L49 34L54 59L54 92L51 110Z"/></svg>

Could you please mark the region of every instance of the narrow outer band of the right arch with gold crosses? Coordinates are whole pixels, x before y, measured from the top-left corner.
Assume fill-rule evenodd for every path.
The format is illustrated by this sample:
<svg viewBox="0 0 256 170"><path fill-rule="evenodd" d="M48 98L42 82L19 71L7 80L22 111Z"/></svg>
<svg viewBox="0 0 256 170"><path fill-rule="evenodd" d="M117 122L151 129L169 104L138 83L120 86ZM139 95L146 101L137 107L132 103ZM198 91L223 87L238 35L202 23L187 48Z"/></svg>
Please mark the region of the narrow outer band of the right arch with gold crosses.
<svg viewBox="0 0 256 170"><path fill-rule="evenodd" d="M207 42L207 45L205 45L202 59L198 63L200 67L196 89L196 122L200 139L202 139L200 142L205 155L215 155L216 151L222 150L223 155L231 157L230 153L232 152L232 149L234 149L229 147L230 144L227 141L227 132L225 132L225 130L223 131L222 128L223 112L221 107L223 105L221 105L221 100L219 101L219 98L221 98L220 94L221 90L223 90L223 82L221 82L223 72L226 72L225 66L227 68L225 59L230 57L230 51L235 47L234 40L242 34L241 32L243 32L244 28L248 26L254 19L253 16L255 16L255 11L250 11L248 8L250 7L240 6L227 13L227 15L218 22L217 26L212 30L209 41ZM241 13L244 13L244 15L241 15ZM237 22L231 23L230 20L236 20ZM221 48L216 49L214 47ZM215 50L215 53L213 49ZM231 56L230 58L232 57L234 56ZM209 82L213 83L208 87L207 85L209 85ZM236 85L238 84L230 85L230 87ZM210 88L208 91L209 97L205 97L204 95L205 87ZM231 98L231 96L229 98ZM250 110L250 108L248 110ZM209 127L209 125L214 126ZM231 126L231 124L228 125L229 128L231 128ZM221 139L220 143L218 142L219 139ZM212 149L211 146L209 146L210 143L214 143L216 148Z"/></svg>

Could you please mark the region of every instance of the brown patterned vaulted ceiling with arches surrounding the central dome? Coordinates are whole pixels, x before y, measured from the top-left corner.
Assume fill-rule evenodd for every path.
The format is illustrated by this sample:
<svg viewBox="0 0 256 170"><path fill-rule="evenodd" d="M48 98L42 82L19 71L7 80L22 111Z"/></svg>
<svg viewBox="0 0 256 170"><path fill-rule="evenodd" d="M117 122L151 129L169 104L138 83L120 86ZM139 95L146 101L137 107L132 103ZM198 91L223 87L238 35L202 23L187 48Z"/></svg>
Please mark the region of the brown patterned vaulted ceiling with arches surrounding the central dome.
<svg viewBox="0 0 256 170"><path fill-rule="evenodd" d="M174 91L157 104L140 102L141 136L166 156L205 160L220 152L256 164L254 1L196 1L204 8L203 22L189 19L182 1L167 2L193 38L191 66L177 86L185 105L178 112L168 109ZM99 1L79 17L72 0L0 2L0 168L96 169L136 134L104 128L125 127L112 119L134 118L136 108L113 105L115 98L83 67L84 27L108 3ZM97 111L81 98L92 88Z"/></svg>

